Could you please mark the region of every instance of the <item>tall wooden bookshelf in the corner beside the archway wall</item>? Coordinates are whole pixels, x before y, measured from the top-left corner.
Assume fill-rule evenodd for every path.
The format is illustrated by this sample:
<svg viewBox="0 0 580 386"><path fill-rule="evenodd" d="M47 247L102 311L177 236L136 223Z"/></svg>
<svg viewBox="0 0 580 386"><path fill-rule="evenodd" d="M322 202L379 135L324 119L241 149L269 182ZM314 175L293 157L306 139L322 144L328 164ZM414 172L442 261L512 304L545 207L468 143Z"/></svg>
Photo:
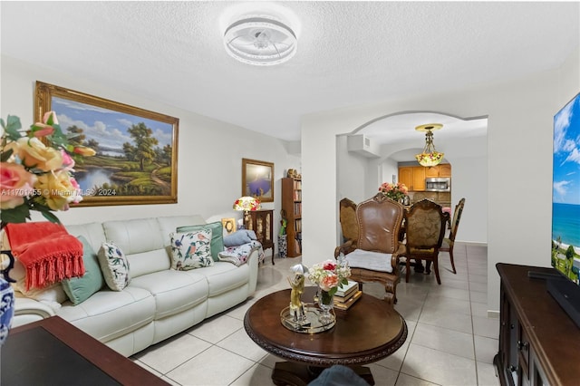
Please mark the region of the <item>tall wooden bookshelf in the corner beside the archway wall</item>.
<svg viewBox="0 0 580 386"><path fill-rule="evenodd" d="M302 255L302 180L282 179L282 209L286 212L288 257Z"/></svg>

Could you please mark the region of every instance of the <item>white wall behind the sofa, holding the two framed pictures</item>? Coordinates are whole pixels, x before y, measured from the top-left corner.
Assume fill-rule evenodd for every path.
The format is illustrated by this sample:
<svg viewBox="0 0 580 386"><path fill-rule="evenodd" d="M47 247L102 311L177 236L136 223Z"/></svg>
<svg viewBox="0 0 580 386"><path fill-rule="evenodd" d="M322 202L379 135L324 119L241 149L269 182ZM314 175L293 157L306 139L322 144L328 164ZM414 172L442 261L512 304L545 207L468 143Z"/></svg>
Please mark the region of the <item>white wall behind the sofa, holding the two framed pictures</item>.
<svg viewBox="0 0 580 386"><path fill-rule="evenodd" d="M2 117L17 115L24 127L33 123L35 81L179 118L177 204L73 207L67 212L56 213L65 225L133 217L199 214L208 218L231 214L232 204L241 194L242 158L247 158L275 164L275 203L265 203L263 207L275 209L277 234L280 179L285 177L287 169L300 169L301 166L299 154L288 151L295 149L295 144L5 56L2 57L1 74ZM195 106L191 109L195 110ZM43 217L35 216L34 219L43 220Z"/></svg>

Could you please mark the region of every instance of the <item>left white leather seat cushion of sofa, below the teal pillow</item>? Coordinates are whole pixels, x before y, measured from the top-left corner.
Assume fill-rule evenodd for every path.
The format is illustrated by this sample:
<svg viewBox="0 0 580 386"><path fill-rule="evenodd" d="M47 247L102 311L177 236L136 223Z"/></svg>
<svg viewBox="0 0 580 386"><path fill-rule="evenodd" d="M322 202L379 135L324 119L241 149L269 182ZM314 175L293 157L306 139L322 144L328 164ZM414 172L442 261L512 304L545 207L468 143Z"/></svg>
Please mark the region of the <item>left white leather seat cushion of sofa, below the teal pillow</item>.
<svg viewBox="0 0 580 386"><path fill-rule="evenodd" d="M122 291L102 289L82 304L63 303L57 315L106 343L151 323L155 299L137 287L128 286Z"/></svg>

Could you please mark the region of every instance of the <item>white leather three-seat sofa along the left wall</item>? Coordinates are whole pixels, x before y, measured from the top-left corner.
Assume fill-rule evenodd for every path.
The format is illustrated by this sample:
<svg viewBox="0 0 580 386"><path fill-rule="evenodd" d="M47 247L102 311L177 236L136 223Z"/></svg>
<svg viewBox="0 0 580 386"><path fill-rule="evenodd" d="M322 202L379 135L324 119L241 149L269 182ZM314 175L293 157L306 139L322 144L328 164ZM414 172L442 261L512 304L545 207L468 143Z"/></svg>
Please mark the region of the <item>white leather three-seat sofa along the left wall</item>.
<svg viewBox="0 0 580 386"><path fill-rule="evenodd" d="M131 265L131 283L121 292L104 285L81 304L65 301L56 311L16 293L13 327L56 314L130 356L243 303L256 290L257 249L239 266L219 261L189 271L170 269L169 234L198 224L205 220L177 216L67 226L95 252L105 241L120 246Z"/></svg>

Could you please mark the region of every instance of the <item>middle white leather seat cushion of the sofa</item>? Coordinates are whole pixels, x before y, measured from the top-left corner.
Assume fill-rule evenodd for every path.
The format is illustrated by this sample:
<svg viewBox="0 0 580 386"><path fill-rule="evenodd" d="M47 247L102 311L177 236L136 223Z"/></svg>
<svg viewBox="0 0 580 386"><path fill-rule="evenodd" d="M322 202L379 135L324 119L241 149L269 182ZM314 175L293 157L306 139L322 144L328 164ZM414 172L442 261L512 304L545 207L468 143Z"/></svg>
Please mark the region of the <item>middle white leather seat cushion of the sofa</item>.
<svg viewBox="0 0 580 386"><path fill-rule="evenodd" d="M155 319L179 314L208 299L208 281L199 274L208 268L191 271L166 270L142 275L131 280L130 288L138 287L153 295ZM185 273L188 275L185 275Z"/></svg>

